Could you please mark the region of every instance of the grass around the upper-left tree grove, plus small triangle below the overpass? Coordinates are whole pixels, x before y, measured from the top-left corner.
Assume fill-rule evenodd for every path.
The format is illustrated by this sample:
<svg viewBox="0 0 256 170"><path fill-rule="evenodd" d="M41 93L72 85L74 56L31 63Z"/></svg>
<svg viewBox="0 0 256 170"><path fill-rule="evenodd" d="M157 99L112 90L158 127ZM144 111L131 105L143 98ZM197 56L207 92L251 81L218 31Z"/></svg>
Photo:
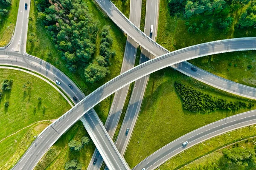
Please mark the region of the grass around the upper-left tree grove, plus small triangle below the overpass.
<svg viewBox="0 0 256 170"><path fill-rule="evenodd" d="M29 54L32 54L36 57L46 60L50 62L52 65L55 65L61 71L64 72L73 82L75 82L84 92L84 94L88 95L92 91L94 91L99 86L103 85L105 82L108 82L110 79L113 79L117 75L120 74L121 66L122 66L122 59L125 51L125 42L126 37L122 33L122 31L101 11L99 11L98 7L93 3L91 0L85 0L89 11L93 13L93 17L95 20L99 21L99 27L102 28L104 25L111 26L111 36L113 37L113 45L112 49L116 51L116 56L110 59L111 65L109 69L111 74L108 74L107 77L96 82L94 84L85 83L84 78L84 70L79 69L75 74L70 73L66 66L65 61L61 59L60 54L55 49L55 45L52 43L50 36L47 34L47 31L43 26L37 23L36 20L36 8L34 0L31 1L30 6L30 17L29 20L29 30L28 36L32 36L31 33L35 34L35 37L38 39L38 42L27 42L26 51ZM94 57L99 54L99 42L101 37L98 37L96 40L96 51L94 53ZM49 57L47 54L51 52L52 56ZM103 122L107 119L109 108L111 107L112 103L112 96L108 97L104 101L102 101L99 105L95 107L96 112L99 114L99 117L102 119Z"/></svg>

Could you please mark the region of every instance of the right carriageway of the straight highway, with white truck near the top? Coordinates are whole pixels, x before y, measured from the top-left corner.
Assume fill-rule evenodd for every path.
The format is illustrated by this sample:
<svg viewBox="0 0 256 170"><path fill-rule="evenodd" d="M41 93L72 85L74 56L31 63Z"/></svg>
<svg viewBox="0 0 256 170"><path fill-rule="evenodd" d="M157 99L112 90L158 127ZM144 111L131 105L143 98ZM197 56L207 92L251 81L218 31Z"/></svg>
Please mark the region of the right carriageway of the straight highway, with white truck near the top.
<svg viewBox="0 0 256 170"><path fill-rule="evenodd" d="M144 33L155 40L157 33L157 18L158 18L158 0L147 0L146 2L146 15L145 15L145 29ZM151 25L154 26L153 33L150 33ZM153 58L153 55L146 51L144 48L141 50L140 64ZM116 148L120 154L124 156L126 148L131 139L137 118L140 113L140 107L143 101L143 96L148 84L149 75L135 81L134 88L131 94L131 99L128 104L125 118L123 120L121 129L116 139ZM129 128L129 133L126 134L126 129Z"/></svg>

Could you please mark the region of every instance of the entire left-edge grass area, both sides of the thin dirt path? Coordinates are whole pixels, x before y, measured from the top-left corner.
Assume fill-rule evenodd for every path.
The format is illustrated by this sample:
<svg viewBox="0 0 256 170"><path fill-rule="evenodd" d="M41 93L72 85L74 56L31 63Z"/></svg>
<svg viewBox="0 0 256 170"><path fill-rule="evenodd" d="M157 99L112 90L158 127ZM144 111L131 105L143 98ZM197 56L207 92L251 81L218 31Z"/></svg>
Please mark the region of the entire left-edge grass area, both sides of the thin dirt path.
<svg viewBox="0 0 256 170"><path fill-rule="evenodd" d="M13 79L12 90L3 91L0 99L0 167L6 168L26 151L33 136L49 124L33 123L56 119L71 107L58 91L38 77L0 69L0 82L3 79ZM38 97L41 97L41 102ZM4 107L6 100L9 100L7 108Z"/></svg>

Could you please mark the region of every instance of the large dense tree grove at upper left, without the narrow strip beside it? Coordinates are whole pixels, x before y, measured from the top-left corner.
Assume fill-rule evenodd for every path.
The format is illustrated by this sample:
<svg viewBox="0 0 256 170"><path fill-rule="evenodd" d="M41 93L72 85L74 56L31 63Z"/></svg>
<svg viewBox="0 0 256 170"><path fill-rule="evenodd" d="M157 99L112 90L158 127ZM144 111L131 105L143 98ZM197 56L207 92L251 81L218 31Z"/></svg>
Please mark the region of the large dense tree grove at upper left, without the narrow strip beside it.
<svg viewBox="0 0 256 170"><path fill-rule="evenodd" d="M91 61L99 31L87 4L82 0L38 0L38 20L45 25L53 42L75 72Z"/></svg>

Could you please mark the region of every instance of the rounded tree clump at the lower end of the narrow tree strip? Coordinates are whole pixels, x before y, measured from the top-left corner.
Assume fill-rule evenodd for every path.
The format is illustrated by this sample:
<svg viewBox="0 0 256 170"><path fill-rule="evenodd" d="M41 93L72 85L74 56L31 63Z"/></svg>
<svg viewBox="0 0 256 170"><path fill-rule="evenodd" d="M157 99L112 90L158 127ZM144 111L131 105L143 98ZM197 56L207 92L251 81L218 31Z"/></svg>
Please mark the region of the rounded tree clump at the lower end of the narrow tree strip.
<svg viewBox="0 0 256 170"><path fill-rule="evenodd" d="M84 76L86 78L86 82L94 83L99 79L104 78L110 71L107 67L102 67L99 64L91 63L84 70Z"/></svg>

